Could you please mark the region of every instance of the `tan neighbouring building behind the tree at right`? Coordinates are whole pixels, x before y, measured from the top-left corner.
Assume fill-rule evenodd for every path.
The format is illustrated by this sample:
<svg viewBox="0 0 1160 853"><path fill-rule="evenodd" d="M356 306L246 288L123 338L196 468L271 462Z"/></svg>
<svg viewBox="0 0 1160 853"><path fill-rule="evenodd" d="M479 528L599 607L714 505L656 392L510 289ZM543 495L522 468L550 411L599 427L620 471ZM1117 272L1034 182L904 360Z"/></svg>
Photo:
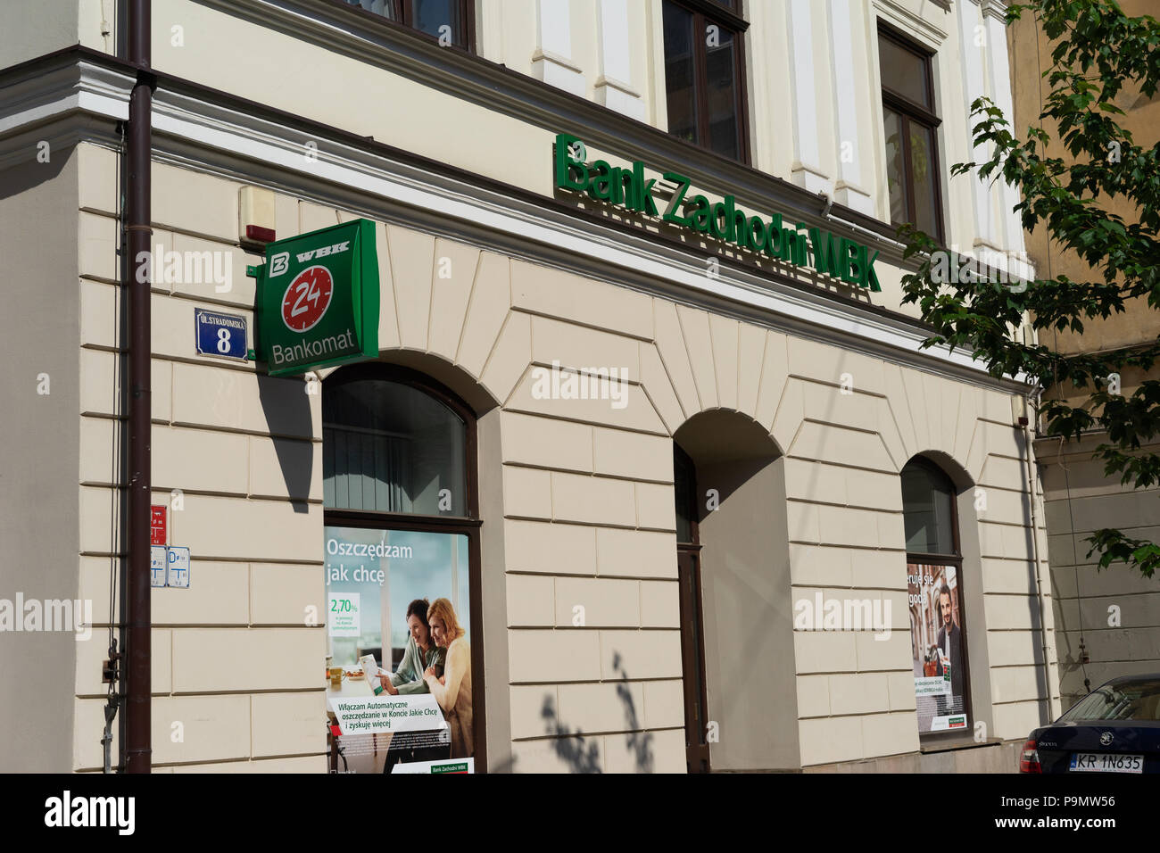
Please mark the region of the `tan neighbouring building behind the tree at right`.
<svg viewBox="0 0 1160 853"><path fill-rule="evenodd" d="M1153 5L1139 0L1125 0L1121 6L1130 16L1155 12ZM1034 19L1025 17L1014 24L1009 43L1014 65L1036 67L1041 72L1050 67L1051 44ZM1038 73L1014 75L1013 86L1015 126L1038 124L1047 93L1046 80ZM1118 117L1121 125L1137 143L1154 142L1160 122L1160 103L1155 99L1128 86L1116 106L1125 111ZM1072 156L1056 136L1052 132L1047 156L1071 161ZM1108 209L1126 222L1136 216L1122 201L1111 200ZM1066 275L1072 281L1094 281L1102 275L1074 253L1050 244L1042 229L1027 234L1027 246L1042 277ZM1107 352L1154 341L1160 334L1160 318L1146 303L1137 301L1122 315L1085 323L1082 334L1067 330L1052 330L1050 334L1050 342L1045 342L1059 353ZM1157 378L1157 371L1125 371L1119 377L1122 393L1133 393L1147 378ZM1046 389L1044 395L1079 405L1088 391L1056 386ZM1093 456L1095 447L1105 440L1102 433L1092 433L1074 443L1061 442L1058 438L1036 441L1035 453L1042 467L1046 501L1051 586L1060 643L1060 691L1065 707L1116 675L1160 670L1160 588L1155 580L1123 565L1099 571L1097 557L1087 556L1090 545L1085 540L1100 528L1115 527L1129 536L1152 541L1160 536L1158 490L1133 491L1122 485L1118 477L1105 477L1104 463ZM1154 444L1144 449L1157 451Z"/></svg>

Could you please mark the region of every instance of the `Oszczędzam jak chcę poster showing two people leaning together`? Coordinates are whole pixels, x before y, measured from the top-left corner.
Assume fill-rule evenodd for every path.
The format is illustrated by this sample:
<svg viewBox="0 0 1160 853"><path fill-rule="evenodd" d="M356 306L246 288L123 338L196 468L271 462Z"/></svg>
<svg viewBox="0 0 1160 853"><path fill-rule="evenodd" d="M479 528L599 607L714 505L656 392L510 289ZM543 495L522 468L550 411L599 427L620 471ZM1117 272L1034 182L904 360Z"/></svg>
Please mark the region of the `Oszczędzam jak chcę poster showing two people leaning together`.
<svg viewBox="0 0 1160 853"><path fill-rule="evenodd" d="M324 530L331 768L471 772L467 537Z"/></svg>

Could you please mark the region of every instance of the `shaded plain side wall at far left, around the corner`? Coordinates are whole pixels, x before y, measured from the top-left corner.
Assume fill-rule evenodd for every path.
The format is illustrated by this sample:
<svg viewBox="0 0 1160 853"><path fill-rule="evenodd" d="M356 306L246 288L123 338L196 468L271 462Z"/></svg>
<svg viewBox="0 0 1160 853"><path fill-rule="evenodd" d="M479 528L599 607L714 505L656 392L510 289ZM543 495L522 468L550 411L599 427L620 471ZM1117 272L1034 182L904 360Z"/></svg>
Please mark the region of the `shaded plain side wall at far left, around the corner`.
<svg viewBox="0 0 1160 853"><path fill-rule="evenodd" d="M71 743L60 732L71 732L74 723L70 696L77 656L107 645L96 630L87 638L84 630L72 630L84 621L84 605L71 623L57 623L64 630L35 632L23 630L32 623L20 608L21 599L26 607L84 599L72 559L79 535L74 414L82 395L74 345L81 315L74 248L84 239L75 216L80 167L67 149L51 150L48 161L38 161L43 149L36 143L27 137L21 161L0 171L0 255L22 270L8 276L8 309L0 316L10 360L0 376L8 436L0 449L0 670L10 680L0 695L0 720L13 732L35 723L50 736L5 738L0 771L9 773L67 767ZM44 608L41 627L52 621L49 605Z"/></svg>

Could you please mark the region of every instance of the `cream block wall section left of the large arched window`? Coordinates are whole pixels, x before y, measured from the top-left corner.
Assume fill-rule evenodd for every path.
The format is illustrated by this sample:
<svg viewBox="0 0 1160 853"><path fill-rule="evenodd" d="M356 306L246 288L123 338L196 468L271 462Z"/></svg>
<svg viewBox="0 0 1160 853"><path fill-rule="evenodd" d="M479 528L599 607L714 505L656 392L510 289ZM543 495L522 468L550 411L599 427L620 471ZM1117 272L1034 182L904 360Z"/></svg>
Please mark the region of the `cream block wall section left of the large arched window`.
<svg viewBox="0 0 1160 853"><path fill-rule="evenodd" d="M122 545L114 491L124 382L117 284L117 162L79 149L80 187L80 588L94 621L108 623L110 564ZM153 503L169 506L169 543L194 555L189 590L154 590L153 764L190 768L325 771L322 693L312 678L325 628L320 578L319 397L302 383L258 376L252 363L193 356L193 308L229 306L252 317L254 285L237 245L237 186L160 165L153 171L153 245L224 252L232 289L168 284L154 276ZM191 196L205 193L202 204ZM299 227L296 203L278 212ZM187 346L189 345L189 346ZM297 467L283 477L280 461ZM317 470L316 470L317 469ZM317 535L316 535L317 534ZM101 764L104 686L101 643L78 646L74 769ZM322 716L319 716L322 714ZM179 739L180 738L180 739ZM117 742L114 743L117 754ZM253 761L253 766L249 764Z"/></svg>

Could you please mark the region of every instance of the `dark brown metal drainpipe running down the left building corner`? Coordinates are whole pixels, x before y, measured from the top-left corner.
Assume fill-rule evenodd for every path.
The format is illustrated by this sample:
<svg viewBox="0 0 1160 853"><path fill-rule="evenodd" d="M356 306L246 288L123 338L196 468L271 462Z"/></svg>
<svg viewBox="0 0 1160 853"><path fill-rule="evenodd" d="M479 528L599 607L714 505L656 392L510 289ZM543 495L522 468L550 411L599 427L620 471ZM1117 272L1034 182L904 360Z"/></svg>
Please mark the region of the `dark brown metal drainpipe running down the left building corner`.
<svg viewBox="0 0 1160 853"><path fill-rule="evenodd" d="M129 96L129 140L126 146L128 204L125 232L129 258L129 578L125 615L125 739L124 768L128 773L148 773L152 746L152 692L150 659L150 443L152 429L150 364L150 237L152 210L152 52L150 45L150 0L130 0L129 62L137 66L137 82Z"/></svg>

